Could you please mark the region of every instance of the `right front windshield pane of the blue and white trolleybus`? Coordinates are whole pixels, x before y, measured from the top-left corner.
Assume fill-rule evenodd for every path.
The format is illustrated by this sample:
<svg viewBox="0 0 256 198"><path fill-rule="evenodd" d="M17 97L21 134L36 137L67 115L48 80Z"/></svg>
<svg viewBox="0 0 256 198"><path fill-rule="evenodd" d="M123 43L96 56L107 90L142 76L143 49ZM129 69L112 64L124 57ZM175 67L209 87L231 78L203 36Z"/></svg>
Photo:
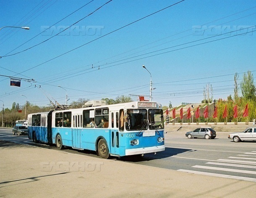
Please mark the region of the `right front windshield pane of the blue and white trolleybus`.
<svg viewBox="0 0 256 198"><path fill-rule="evenodd" d="M164 128L163 110L161 109L148 110L148 128L151 130Z"/></svg>

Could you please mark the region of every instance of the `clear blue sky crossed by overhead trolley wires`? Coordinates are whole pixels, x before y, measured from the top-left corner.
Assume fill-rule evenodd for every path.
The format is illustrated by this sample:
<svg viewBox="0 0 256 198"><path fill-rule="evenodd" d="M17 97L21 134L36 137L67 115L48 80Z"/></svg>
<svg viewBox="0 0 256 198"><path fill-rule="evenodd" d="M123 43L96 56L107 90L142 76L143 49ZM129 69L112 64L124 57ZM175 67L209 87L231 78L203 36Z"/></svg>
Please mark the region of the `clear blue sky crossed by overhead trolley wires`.
<svg viewBox="0 0 256 198"><path fill-rule="evenodd" d="M29 26L30 30L2 29L0 56L23 51L49 39L108 0L89 2L2 0L0 28ZM213 87L214 99L233 96L233 74L240 73L241 81L243 72L256 70L256 32L251 32L256 29L220 34L255 26L256 2L185 0L135 22L176 2L178 0L113 0L60 35L25 52L2 57L1 75L16 75L36 82L22 81L21 87L14 87L10 86L10 78L0 76L0 100L4 101L5 108L11 108L13 102L24 105L26 98L21 95L25 95L30 103L47 106L46 94L52 101L65 104L66 91L58 85L67 90L68 103L79 98L100 100L129 94L149 95L150 74L142 65L152 74L156 88L152 91L153 101L162 105L168 105L169 101L173 106L201 102L208 83ZM86 3L89 4L68 16ZM126 26L132 22L135 23ZM126 27L106 35L123 26ZM241 33L245 34L234 36ZM230 36L233 37L227 38ZM221 38L226 39L214 41ZM196 42L189 43L192 41ZM201 44L208 41L214 42ZM192 46L196 44L201 45ZM184 47L187 48L181 49ZM167 53L160 54L162 52ZM59 55L62 56L55 58ZM255 76L255 72L253 74Z"/></svg>

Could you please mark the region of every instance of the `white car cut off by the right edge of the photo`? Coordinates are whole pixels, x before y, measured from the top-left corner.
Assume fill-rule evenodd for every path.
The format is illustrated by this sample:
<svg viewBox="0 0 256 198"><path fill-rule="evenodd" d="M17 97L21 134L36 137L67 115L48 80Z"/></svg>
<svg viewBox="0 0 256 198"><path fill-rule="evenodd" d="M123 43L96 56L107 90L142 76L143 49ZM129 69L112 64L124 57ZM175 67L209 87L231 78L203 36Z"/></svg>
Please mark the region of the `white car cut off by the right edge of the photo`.
<svg viewBox="0 0 256 198"><path fill-rule="evenodd" d="M247 128L243 132L229 134L228 138L234 142L240 141L256 141L256 127Z"/></svg>

